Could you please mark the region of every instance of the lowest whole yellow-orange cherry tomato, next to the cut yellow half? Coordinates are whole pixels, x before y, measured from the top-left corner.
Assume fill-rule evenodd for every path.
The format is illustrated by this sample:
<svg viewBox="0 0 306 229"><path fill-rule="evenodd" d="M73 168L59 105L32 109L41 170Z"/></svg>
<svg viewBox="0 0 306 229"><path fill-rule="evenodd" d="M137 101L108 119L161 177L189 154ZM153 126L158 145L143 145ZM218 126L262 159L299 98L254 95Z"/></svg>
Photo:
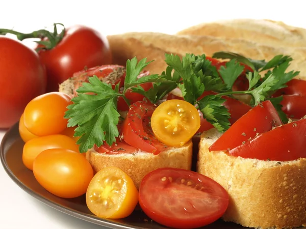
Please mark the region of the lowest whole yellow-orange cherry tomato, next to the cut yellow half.
<svg viewBox="0 0 306 229"><path fill-rule="evenodd" d="M42 187L63 198L85 194L93 178L93 169L86 158L67 149L41 152L34 160L33 173Z"/></svg>

